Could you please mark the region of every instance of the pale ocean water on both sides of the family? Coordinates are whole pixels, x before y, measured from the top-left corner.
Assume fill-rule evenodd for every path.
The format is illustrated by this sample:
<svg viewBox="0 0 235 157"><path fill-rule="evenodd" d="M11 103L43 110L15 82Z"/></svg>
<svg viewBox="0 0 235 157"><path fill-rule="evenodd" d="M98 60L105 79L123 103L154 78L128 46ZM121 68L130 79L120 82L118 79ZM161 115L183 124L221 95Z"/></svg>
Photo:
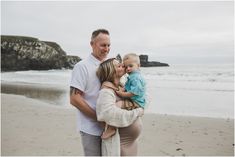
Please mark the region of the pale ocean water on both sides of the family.
<svg viewBox="0 0 235 157"><path fill-rule="evenodd" d="M147 82L147 113L234 118L233 64L142 67L141 72ZM71 70L2 72L1 92L71 107L70 76ZM57 87L58 91L22 90L4 87L5 83Z"/></svg>

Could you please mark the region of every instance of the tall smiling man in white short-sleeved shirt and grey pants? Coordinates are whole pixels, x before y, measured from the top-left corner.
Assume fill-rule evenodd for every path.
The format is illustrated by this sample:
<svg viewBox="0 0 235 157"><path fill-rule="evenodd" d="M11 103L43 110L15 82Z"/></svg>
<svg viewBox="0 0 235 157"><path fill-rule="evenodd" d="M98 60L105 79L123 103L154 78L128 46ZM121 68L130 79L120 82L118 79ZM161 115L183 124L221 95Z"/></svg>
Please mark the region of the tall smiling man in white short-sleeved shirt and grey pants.
<svg viewBox="0 0 235 157"><path fill-rule="evenodd" d="M70 103L78 109L80 130L85 156L101 156L102 128L96 118L96 101L100 82L96 76L99 64L110 50L109 32L98 29L92 33L92 53L74 66L70 83Z"/></svg>

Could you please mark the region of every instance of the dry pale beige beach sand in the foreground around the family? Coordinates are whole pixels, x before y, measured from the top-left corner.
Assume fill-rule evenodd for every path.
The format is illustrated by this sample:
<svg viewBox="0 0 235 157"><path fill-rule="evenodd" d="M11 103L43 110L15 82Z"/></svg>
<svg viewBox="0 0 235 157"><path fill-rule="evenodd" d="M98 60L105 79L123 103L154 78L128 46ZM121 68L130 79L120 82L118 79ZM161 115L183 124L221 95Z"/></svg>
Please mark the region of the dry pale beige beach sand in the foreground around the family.
<svg viewBox="0 0 235 157"><path fill-rule="evenodd" d="M1 155L83 155L76 109L1 94ZM234 119L145 114L140 156L233 156Z"/></svg>

